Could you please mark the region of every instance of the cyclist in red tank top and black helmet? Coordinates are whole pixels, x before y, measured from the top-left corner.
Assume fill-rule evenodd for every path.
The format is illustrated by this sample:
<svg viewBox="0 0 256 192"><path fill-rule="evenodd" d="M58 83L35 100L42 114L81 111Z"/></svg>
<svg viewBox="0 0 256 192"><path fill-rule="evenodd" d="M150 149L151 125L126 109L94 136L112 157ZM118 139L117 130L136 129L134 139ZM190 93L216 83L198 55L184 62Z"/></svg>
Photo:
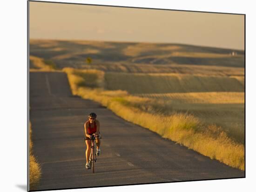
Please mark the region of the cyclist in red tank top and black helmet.
<svg viewBox="0 0 256 192"><path fill-rule="evenodd" d="M101 138L100 135L100 122L96 120L97 115L95 113L90 113L88 115L89 120L84 123L84 130L85 130L85 142L86 142L86 168L89 169L90 163L89 163L89 158L91 154L91 146L92 142L90 139L92 139L92 136L96 138ZM99 156L101 154L101 149L100 149L101 141L99 139L96 139L96 146L97 146L97 151L96 155Z"/></svg>

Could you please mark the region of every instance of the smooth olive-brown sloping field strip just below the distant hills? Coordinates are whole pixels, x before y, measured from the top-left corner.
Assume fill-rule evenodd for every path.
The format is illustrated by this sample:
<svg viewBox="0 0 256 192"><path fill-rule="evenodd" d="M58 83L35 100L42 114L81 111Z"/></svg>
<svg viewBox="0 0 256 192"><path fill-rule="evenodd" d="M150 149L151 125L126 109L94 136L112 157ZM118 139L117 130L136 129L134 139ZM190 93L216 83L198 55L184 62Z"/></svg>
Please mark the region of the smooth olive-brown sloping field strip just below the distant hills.
<svg viewBox="0 0 256 192"><path fill-rule="evenodd" d="M244 91L243 85L232 77L113 72L105 73L105 89L127 90L131 94Z"/></svg>

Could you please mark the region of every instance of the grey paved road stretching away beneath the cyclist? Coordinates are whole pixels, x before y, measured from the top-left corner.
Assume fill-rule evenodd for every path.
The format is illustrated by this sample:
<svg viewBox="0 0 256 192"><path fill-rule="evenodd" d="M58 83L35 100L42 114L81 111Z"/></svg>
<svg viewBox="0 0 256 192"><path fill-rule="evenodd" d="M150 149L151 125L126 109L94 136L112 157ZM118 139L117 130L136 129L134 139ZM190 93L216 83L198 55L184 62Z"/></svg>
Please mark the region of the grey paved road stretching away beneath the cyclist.
<svg viewBox="0 0 256 192"><path fill-rule="evenodd" d="M72 96L64 73L31 72L30 106L34 154L42 167L36 190L244 177L243 171ZM85 169L83 141L91 111L98 115L103 137L95 174Z"/></svg>

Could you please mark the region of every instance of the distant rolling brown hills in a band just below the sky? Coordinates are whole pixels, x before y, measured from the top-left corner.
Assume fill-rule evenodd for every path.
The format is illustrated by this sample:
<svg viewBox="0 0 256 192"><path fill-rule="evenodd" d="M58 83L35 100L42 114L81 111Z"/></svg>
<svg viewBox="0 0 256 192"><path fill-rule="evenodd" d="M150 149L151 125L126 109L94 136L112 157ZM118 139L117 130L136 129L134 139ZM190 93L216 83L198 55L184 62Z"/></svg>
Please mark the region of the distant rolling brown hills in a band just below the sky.
<svg viewBox="0 0 256 192"><path fill-rule="evenodd" d="M233 51L235 56L230 55ZM31 39L30 55L53 60L58 68L87 67L86 58L92 58L95 69L117 63L244 67L244 51L182 44Z"/></svg>

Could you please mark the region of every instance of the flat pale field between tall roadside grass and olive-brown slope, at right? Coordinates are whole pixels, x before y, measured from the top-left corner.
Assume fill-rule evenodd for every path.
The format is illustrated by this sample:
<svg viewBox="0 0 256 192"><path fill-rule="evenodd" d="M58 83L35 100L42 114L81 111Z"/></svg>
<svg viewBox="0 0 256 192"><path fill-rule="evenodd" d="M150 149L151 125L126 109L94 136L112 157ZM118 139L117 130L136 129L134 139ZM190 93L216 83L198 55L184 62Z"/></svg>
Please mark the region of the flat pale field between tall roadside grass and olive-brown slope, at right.
<svg viewBox="0 0 256 192"><path fill-rule="evenodd" d="M136 94L139 109L163 115L174 111L192 114L206 124L216 124L228 136L244 143L244 92ZM138 97L138 98L140 98Z"/></svg>

